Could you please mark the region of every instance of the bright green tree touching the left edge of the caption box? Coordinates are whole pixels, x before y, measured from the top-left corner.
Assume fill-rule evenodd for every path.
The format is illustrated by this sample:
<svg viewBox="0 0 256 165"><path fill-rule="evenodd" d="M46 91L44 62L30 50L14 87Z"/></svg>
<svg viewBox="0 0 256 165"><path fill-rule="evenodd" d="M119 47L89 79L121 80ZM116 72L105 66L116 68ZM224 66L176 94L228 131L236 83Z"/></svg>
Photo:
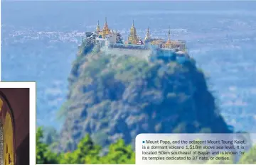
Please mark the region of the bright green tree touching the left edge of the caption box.
<svg viewBox="0 0 256 165"><path fill-rule="evenodd" d="M125 145L124 140L110 144L110 151L101 158L102 164L135 164L135 153L131 145Z"/></svg>

